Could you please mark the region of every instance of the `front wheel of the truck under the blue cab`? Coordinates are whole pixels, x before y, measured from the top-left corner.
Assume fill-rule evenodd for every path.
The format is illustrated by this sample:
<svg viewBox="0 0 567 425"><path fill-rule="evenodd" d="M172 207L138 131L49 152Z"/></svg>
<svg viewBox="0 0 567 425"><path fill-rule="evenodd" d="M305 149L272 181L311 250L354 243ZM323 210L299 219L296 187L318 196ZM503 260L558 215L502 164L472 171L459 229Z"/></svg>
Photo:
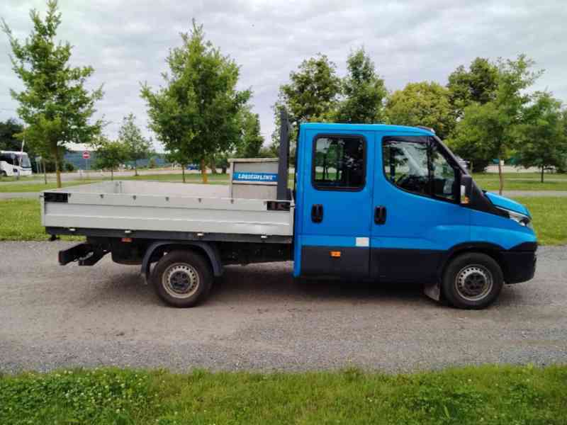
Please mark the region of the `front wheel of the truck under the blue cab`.
<svg viewBox="0 0 567 425"><path fill-rule="evenodd" d="M453 307L480 310L498 298L503 285L502 269L492 257L468 252L451 260L443 275L442 290Z"/></svg>

